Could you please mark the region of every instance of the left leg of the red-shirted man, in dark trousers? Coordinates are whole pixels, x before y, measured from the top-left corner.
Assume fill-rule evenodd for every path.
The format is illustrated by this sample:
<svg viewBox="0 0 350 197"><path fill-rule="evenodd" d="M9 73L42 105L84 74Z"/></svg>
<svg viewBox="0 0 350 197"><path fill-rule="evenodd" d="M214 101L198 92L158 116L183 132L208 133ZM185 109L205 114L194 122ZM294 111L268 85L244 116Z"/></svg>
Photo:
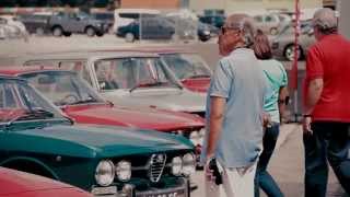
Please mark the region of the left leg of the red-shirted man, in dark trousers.
<svg viewBox="0 0 350 197"><path fill-rule="evenodd" d="M312 130L312 135L303 135L305 151L305 197L325 197L328 179L326 142L322 137L322 126L313 123Z"/></svg>

